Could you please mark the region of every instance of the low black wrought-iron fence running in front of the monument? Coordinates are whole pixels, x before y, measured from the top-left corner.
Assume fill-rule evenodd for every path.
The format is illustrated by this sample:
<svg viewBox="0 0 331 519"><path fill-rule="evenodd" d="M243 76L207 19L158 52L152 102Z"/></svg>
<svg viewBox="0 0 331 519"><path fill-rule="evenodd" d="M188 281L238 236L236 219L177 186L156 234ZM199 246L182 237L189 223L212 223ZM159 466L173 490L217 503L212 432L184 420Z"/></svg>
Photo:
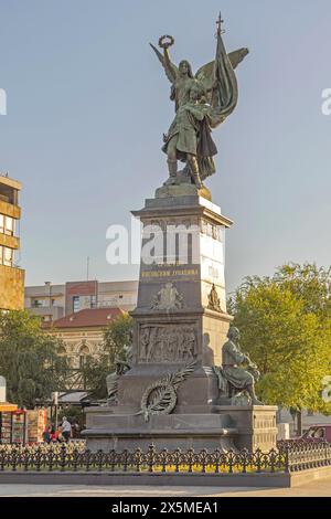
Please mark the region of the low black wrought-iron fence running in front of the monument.
<svg viewBox="0 0 331 519"><path fill-rule="evenodd" d="M331 465L331 444L284 445L263 453L214 451L90 452L84 445L0 447L1 472L108 472L108 473L289 473Z"/></svg>

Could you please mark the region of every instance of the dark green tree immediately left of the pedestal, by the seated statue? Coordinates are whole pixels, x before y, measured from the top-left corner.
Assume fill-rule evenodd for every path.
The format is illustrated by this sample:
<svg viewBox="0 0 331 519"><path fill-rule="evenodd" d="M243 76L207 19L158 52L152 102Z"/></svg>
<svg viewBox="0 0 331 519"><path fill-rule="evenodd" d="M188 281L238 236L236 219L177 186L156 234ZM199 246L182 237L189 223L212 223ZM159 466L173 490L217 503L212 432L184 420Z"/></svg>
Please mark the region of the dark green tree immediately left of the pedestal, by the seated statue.
<svg viewBox="0 0 331 519"><path fill-rule="evenodd" d="M106 399L106 377L115 371L116 360L126 360L127 348L132 342L132 318L124 314L111 321L104 331L104 353L88 356L82 368L85 386L94 399Z"/></svg>

